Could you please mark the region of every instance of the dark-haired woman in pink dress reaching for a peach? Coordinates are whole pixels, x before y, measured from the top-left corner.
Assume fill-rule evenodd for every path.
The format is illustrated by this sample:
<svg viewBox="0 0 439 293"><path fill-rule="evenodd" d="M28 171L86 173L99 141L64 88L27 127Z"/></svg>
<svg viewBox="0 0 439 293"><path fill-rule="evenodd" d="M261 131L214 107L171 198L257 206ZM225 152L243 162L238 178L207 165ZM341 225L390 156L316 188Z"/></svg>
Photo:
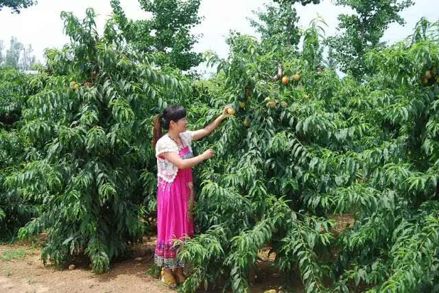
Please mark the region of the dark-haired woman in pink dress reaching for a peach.
<svg viewBox="0 0 439 293"><path fill-rule="evenodd" d="M214 131L228 116L227 108L221 116L204 129L187 131L186 110L169 106L154 118L152 145L156 147L158 168L157 189L157 244L154 262L162 267L161 280L167 285L185 281L185 264L176 259L174 240L193 236L191 207L194 202L191 168L213 156L208 149L193 156L191 142L200 140ZM167 133L162 136L162 127Z"/></svg>

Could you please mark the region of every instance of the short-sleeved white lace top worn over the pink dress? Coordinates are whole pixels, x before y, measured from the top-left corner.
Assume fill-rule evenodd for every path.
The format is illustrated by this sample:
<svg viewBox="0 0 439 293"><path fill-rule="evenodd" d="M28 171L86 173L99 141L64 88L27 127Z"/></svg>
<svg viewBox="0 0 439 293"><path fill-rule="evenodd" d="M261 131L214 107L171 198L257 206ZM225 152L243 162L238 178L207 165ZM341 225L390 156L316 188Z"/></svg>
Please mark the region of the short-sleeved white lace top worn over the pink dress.
<svg viewBox="0 0 439 293"><path fill-rule="evenodd" d="M188 146L192 153L192 131L180 133L180 138L184 146ZM156 143L157 177L172 183L177 176L178 168L163 157L159 157L162 153L166 152L179 153L178 144L176 144L174 140L171 140L167 134L162 136Z"/></svg>

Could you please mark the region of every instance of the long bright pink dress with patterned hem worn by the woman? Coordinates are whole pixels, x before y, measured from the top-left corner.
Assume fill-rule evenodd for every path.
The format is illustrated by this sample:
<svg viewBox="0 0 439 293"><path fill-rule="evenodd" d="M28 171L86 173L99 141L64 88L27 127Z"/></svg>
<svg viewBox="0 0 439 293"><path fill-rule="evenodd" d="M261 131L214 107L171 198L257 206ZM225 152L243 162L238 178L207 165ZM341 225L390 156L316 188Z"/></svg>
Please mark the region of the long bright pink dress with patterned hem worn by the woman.
<svg viewBox="0 0 439 293"><path fill-rule="evenodd" d="M189 146L178 153L182 159L193 157ZM157 244L154 262L163 268L182 268L184 263L176 258L174 239L193 237L193 177L191 168L178 169L171 183L158 178L157 190Z"/></svg>

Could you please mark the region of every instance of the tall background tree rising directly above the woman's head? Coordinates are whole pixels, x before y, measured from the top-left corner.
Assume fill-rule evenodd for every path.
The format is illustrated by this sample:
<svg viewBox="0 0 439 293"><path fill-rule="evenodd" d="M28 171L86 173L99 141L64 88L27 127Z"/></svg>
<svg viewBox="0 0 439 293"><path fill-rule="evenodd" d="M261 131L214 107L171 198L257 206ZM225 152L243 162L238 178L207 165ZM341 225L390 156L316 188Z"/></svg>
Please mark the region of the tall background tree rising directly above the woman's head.
<svg viewBox="0 0 439 293"><path fill-rule="evenodd" d="M158 64L187 71L202 62L202 55L191 51L199 36L191 28L200 24L200 0L139 0L141 8L152 18L129 20L119 0L111 7L127 42L145 53L158 54Z"/></svg>

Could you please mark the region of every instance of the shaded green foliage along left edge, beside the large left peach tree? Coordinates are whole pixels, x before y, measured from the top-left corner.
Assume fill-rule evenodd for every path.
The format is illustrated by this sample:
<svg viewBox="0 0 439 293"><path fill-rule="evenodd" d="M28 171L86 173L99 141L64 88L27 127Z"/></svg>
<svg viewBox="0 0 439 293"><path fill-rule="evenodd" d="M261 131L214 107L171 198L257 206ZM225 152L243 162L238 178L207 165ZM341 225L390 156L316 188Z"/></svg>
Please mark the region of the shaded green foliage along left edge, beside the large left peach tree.
<svg viewBox="0 0 439 293"><path fill-rule="evenodd" d="M5 177L25 160L29 144L19 128L21 111L32 92L29 77L15 68L0 68L0 241L12 240L19 227L38 214L38 203L3 187Z"/></svg>

